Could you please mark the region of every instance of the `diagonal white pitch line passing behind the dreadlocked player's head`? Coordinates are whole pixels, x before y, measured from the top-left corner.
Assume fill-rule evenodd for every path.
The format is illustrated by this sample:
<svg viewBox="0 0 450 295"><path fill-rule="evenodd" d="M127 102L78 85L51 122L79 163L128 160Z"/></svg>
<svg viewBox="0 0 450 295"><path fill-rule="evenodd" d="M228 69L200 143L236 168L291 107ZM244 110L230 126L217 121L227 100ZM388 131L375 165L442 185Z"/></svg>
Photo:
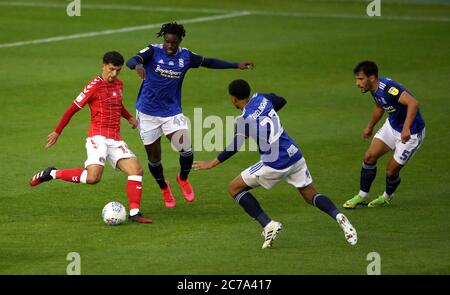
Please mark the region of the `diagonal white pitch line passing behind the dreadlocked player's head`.
<svg viewBox="0 0 450 295"><path fill-rule="evenodd" d="M248 12L236 12L236 13L229 13L229 14L222 14L222 15L215 15L215 16L204 16L204 17L197 17L197 18L191 18L191 19L183 19L183 20L179 20L177 22L183 23L183 24L191 24L191 23L200 23L200 22L208 22L208 21L214 21L214 20L219 20L219 19L240 17L240 16L249 15L249 14L250 13L248 13ZM56 36L56 37L50 37L50 38L45 38L45 39L20 41L20 42L14 42L14 43L5 43L5 44L0 44L0 48L18 47L18 46L24 46L24 45L50 43L50 42L65 41L65 40L71 40L71 39L89 38L89 37L111 35L111 34L117 34L117 33L125 33L125 32L131 32L131 31L141 31L141 30L159 28L162 25L163 25L163 23L148 24L148 25L142 25L142 26L125 27L125 28L121 28L121 29L80 33L80 34L66 35L66 36Z"/></svg>

